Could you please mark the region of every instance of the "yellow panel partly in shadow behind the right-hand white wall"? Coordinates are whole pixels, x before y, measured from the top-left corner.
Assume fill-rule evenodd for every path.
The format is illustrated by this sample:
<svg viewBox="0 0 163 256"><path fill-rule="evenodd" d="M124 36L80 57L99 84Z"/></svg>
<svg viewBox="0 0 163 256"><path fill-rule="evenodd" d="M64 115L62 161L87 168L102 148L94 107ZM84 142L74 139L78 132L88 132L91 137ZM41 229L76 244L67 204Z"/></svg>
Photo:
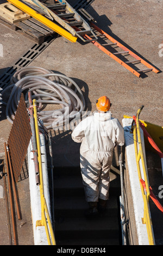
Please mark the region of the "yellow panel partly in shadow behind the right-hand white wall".
<svg viewBox="0 0 163 256"><path fill-rule="evenodd" d="M133 117L130 117L129 115L123 115L123 117L133 119ZM144 120L140 120L140 121L145 125L146 131L149 133L149 135L151 135L151 137L153 138L153 141L156 143L159 149L163 152L163 127L149 123Z"/></svg>

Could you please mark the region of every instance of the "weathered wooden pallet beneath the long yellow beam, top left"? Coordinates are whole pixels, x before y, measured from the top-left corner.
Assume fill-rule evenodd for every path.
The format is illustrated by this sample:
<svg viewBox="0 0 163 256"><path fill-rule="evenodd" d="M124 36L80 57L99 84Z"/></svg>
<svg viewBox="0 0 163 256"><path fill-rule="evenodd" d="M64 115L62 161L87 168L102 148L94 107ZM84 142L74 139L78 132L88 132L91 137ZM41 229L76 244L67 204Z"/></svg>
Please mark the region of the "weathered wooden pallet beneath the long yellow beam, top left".
<svg viewBox="0 0 163 256"><path fill-rule="evenodd" d="M56 33L51 28L48 28L41 22L35 20L33 17L12 24L10 21L5 20L4 17L0 16L0 24L12 29L12 31L16 31L18 34L26 36L30 40L36 42L36 44L42 44L47 36Z"/></svg>

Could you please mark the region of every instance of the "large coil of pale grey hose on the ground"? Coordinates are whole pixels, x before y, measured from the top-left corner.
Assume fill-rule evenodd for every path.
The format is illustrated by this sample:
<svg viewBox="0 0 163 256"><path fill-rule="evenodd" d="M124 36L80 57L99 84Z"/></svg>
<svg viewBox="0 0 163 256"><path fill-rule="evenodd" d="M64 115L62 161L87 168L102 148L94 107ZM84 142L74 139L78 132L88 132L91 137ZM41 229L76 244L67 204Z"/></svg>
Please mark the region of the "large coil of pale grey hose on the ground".
<svg viewBox="0 0 163 256"><path fill-rule="evenodd" d="M70 120L82 115L85 100L78 85L65 75L52 71L28 66L15 72L11 77L11 94L6 107L7 119L13 123L21 93L28 103L28 92L36 99L39 118L47 129L70 123ZM7 90L9 87L3 90ZM61 105L61 108L45 110L45 105Z"/></svg>

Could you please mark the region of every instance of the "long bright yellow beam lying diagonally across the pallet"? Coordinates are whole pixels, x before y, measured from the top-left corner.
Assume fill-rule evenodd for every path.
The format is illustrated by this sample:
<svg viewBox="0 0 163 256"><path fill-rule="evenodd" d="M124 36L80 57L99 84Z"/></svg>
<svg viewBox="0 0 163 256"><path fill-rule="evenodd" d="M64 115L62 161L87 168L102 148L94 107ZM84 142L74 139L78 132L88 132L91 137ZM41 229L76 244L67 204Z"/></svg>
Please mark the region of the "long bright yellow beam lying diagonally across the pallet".
<svg viewBox="0 0 163 256"><path fill-rule="evenodd" d="M17 8L21 9L25 13L29 14L30 16L34 17L36 20L40 21L47 27L51 28L53 31L57 32L61 36L64 36L64 38L68 39L71 42L76 42L77 37L73 36L71 33L67 32L64 28L61 28L53 21L47 19L47 17L44 17L43 15L37 13L35 10L30 8L28 5L18 1L18 0L8 0L11 4L14 4Z"/></svg>

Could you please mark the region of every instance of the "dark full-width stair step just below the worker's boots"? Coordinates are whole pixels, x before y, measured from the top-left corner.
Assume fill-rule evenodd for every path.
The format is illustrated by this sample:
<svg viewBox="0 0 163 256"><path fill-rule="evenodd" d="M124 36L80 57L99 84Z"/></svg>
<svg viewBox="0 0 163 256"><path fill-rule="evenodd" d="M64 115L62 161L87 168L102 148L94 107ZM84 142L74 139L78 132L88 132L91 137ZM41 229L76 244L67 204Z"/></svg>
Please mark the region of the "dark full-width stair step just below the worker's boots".
<svg viewBox="0 0 163 256"><path fill-rule="evenodd" d="M65 217L55 220L55 239L119 239L117 217Z"/></svg>

